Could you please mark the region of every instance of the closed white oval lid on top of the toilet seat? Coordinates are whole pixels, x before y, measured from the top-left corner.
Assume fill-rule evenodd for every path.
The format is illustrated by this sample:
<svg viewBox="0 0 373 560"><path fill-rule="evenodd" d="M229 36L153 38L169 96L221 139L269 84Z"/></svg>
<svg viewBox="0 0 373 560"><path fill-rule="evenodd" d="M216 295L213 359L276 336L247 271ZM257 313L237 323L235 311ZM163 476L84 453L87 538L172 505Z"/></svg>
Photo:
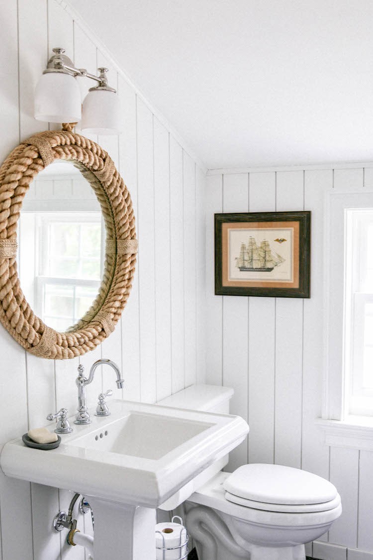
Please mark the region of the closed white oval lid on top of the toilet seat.
<svg viewBox="0 0 373 560"><path fill-rule="evenodd" d="M337 496L336 487L328 480L284 465L240 466L225 479L223 486L239 498L290 506L329 502Z"/></svg>

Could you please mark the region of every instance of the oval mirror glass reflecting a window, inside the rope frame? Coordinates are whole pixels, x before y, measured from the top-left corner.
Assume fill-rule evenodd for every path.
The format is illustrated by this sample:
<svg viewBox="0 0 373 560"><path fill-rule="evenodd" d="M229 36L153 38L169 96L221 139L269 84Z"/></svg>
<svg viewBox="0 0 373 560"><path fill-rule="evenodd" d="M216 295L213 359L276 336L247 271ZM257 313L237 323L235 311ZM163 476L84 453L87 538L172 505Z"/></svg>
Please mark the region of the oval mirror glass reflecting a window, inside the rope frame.
<svg viewBox="0 0 373 560"><path fill-rule="evenodd" d="M66 332L95 300L105 260L105 224L91 185L56 160L32 181L18 220L18 274L35 314Z"/></svg>

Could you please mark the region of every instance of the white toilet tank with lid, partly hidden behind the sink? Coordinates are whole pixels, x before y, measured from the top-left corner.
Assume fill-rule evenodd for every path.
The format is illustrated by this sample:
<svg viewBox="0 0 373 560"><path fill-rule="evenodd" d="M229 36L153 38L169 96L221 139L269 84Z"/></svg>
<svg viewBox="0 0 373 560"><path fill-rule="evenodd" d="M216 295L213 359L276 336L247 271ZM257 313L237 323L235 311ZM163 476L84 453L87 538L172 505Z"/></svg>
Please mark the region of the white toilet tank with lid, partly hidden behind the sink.
<svg viewBox="0 0 373 560"><path fill-rule="evenodd" d="M157 404L161 404L164 407L229 414L229 401L232 399L233 393L233 389L218 385L191 385L174 395L168 396L166 399L159 400ZM187 500L193 492L196 492L197 489L219 473L227 463L228 455L221 457L213 465L180 488L176 494L171 496L159 508L166 511L174 510L178 505Z"/></svg>

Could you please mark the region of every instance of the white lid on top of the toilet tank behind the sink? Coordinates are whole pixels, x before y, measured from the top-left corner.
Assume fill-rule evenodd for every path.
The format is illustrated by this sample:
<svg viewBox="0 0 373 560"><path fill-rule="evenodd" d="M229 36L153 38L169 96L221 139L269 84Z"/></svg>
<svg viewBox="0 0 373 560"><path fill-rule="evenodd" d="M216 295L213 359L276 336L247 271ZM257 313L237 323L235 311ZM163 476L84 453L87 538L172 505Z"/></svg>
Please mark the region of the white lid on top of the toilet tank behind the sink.
<svg viewBox="0 0 373 560"><path fill-rule="evenodd" d="M190 385L174 395L159 400L157 404L164 407L209 411L224 400L231 399L233 393L233 389L219 385Z"/></svg>

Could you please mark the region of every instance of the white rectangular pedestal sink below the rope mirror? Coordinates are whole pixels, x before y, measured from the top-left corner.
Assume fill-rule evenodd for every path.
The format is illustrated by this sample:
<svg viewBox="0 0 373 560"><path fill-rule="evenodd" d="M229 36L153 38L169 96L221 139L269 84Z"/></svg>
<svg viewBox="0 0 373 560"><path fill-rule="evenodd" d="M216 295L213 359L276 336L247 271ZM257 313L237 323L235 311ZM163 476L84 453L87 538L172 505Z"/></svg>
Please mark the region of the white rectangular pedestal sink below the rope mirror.
<svg viewBox="0 0 373 560"><path fill-rule="evenodd" d="M111 416L74 425L57 449L31 449L21 438L8 442L0 464L7 476L87 497L95 514L95 560L153 560L155 508L248 430L238 416L113 400Z"/></svg>

